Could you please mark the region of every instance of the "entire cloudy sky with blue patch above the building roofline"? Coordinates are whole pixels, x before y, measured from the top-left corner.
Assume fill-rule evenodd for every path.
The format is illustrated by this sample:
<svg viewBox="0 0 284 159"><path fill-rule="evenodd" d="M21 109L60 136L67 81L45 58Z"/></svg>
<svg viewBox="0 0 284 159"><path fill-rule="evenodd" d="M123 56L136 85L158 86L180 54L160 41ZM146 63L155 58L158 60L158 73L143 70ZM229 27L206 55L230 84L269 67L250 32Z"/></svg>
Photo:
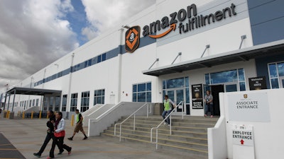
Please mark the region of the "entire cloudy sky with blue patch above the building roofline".
<svg viewBox="0 0 284 159"><path fill-rule="evenodd" d="M1 0L0 93L155 0Z"/></svg>

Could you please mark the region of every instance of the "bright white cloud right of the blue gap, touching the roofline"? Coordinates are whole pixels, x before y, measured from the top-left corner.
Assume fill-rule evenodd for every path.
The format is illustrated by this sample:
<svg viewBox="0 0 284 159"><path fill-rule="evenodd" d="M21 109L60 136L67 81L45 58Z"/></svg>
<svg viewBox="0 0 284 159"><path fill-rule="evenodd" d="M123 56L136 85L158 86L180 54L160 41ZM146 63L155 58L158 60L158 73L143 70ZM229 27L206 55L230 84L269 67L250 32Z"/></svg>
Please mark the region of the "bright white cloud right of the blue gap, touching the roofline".
<svg viewBox="0 0 284 159"><path fill-rule="evenodd" d="M82 0L90 25L82 30L89 40L97 37L104 30L121 23L148 6L154 0Z"/></svg>

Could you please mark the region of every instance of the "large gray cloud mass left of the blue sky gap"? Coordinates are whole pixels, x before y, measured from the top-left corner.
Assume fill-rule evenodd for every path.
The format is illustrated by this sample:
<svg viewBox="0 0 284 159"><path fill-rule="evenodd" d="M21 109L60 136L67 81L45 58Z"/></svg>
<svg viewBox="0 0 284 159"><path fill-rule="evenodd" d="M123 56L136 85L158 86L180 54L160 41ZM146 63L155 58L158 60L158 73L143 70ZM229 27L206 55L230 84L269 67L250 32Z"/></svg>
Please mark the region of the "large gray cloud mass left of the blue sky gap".
<svg viewBox="0 0 284 159"><path fill-rule="evenodd" d="M79 46L67 20L70 1L0 1L0 90Z"/></svg>

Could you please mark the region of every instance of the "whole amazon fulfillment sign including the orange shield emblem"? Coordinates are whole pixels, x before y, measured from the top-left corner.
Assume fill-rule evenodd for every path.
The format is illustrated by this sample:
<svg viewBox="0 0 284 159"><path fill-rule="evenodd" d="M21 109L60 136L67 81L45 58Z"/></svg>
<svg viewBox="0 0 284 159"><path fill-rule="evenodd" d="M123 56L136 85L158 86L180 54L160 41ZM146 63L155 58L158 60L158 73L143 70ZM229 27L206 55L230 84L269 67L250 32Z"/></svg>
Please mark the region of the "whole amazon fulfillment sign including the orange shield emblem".
<svg viewBox="0 0 284 159"><path fill-rule="evenodd" d="M178 32L189 33L198 28L204 28L215 22L226 20L232 16L236 16L236 5L226 6L219 11L203 15L197 13L196 4L191 4L179 11L170 13L159 20L155 20L149 25L143 26L143 37L151 37L158 39L164 37L178 28ZM157 35L157 32L159 34ZM126 31L126 52L134 52L139 46L140 26L133 26Z"/></svg>

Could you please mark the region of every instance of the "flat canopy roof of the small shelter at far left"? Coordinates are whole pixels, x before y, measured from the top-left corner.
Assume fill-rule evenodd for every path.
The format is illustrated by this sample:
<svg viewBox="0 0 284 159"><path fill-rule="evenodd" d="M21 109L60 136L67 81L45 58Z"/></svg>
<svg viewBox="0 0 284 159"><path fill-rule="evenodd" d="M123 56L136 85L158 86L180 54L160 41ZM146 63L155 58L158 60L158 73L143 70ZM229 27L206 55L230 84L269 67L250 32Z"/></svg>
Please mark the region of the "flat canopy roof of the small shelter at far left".
<svg viewBox="0 0 284 159"><path fill-rule="evenodd" d="M8 90L7 94L20 94L20 95L52 95L52 94L61 94L61 90L46 90L38 88L23 88L23 87L14 87Z"/></svg>

